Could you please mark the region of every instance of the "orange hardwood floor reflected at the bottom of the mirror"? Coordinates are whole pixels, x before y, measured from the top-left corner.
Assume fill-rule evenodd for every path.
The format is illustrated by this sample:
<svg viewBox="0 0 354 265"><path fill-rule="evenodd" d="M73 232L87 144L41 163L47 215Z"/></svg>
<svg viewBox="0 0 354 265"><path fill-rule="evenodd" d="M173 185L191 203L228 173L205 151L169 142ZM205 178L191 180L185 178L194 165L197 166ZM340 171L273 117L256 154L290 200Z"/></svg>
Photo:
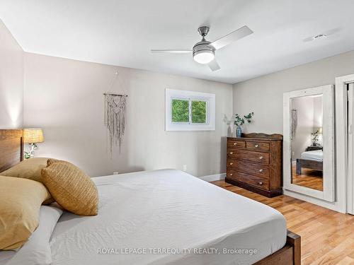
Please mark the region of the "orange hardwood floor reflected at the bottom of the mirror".
<svg viewBox="0 0 354 265"><path fill-rule="evenodd" d="M302 168L302 175L297 175L296 167L292 167L292 183L319 191L324 190L324 178L322 172Z"/></svg>

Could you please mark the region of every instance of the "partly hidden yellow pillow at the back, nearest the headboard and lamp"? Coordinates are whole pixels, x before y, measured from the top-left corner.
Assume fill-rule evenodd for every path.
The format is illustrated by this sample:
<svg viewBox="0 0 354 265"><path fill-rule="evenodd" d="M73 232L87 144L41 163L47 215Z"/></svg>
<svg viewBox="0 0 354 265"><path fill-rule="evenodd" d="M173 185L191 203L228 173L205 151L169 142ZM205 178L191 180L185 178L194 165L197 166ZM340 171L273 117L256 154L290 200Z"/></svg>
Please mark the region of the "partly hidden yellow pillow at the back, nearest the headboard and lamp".
<svg viewBox="0 0 354 265"><path fill-rule="evenodd" d="M40 170L47 166L48 158L29 158L1 172L1 176L22 177L42 182Z"/></svg>

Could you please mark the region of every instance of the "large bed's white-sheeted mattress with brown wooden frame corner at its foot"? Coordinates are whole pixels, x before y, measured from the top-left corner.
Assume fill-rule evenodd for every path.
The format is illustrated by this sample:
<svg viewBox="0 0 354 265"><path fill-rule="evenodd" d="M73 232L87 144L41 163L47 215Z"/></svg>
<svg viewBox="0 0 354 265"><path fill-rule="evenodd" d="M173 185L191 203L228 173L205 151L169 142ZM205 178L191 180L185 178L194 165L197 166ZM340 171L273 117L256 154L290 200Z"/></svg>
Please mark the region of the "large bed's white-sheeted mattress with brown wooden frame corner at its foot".
<svg viewBox="0 0 354 265"><path fill-rule="evenodd" d="M185 172L93 181L98 216L62 215L50 240L53 265L300 264L300 237L281 213ZM0 252L0 264L16 254Z"/></svg>

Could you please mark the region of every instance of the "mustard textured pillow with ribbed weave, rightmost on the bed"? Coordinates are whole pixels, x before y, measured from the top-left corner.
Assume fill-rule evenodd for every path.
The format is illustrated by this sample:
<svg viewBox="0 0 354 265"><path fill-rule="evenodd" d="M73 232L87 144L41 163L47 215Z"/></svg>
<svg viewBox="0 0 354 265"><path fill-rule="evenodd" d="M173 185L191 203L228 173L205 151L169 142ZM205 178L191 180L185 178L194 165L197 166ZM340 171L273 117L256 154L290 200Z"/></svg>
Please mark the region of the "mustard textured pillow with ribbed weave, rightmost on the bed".
<svg viewBox="0 0 354 265"><path fill-rule="evenodd" d="M85 172L72 163L55 160L42 169L42 181L57 203L81 216L98 213L97 187Z"/></svg>

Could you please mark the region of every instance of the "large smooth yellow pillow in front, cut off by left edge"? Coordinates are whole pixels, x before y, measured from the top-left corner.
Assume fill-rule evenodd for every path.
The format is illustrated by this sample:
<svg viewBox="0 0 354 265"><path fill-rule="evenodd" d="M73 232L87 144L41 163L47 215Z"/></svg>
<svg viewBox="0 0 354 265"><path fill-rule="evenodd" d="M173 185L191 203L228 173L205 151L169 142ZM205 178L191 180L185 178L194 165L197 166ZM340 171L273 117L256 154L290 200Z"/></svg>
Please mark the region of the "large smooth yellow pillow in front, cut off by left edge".
<svg viewBox="0 0 354 265"><path fill-rule="evenodd" d="M0 249L17 249L28 240L47 199L50 193L40 182L0 176Z"/></svg>

